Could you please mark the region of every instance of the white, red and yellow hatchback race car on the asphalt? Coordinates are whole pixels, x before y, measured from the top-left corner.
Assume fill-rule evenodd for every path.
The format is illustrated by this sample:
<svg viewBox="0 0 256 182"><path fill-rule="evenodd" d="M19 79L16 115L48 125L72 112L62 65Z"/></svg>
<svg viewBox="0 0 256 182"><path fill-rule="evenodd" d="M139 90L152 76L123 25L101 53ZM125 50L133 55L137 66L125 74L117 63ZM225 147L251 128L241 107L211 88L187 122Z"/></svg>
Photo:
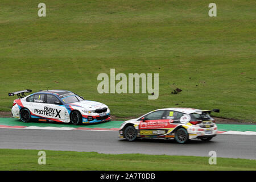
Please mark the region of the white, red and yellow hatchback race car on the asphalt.
<svg viewBox="0 0 256 182"><path fill-rule="evenodd" d="M175 139L186 143L190 139L210 140L217 134L217 125L210 112L219 109L166 108L151 111L142 117L122 123L119 138L134 141L137 138Z"/></svg>

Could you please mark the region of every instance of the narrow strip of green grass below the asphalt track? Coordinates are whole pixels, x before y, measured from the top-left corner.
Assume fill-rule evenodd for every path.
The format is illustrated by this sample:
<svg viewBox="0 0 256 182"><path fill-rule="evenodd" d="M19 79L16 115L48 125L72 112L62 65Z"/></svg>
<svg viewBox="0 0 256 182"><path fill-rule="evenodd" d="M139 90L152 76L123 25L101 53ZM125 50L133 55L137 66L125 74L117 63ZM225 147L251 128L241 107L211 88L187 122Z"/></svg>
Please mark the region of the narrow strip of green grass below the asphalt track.
<svg viewBox="0 0 256 182"><path fill-rule="evenodd" d="M0 149L0 170L256 170L256 160L144 154L45 151L46 164L38 164L39 150Z"/></svg>

